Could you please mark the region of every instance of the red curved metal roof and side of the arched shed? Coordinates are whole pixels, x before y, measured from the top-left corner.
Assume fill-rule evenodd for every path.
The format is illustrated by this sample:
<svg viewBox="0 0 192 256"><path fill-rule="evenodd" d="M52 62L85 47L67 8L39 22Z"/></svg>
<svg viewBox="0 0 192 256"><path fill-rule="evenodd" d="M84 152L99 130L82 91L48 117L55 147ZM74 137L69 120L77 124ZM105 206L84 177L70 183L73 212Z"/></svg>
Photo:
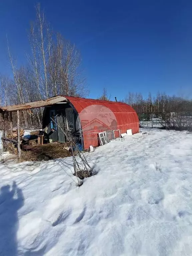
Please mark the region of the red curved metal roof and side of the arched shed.
<svg viewBox="0 0 192 256"><path fill-rule="evenodd" d="M114 101L85 99L64 96L77 111L82 128L84 149L98 146L98 133L106 130L120 130L126 133L139 132L139 119L128 104Z"/></svg>

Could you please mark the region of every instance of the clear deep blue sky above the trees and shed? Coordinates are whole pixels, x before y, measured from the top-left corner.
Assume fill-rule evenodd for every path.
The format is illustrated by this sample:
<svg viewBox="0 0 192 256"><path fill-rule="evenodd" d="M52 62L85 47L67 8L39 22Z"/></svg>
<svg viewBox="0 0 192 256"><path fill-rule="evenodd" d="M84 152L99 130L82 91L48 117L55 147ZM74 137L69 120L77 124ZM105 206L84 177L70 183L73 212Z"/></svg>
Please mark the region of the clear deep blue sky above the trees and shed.
<svg viewBox="0 0 192 256"><path fill-rule="evenodd" d="M55 31L80 49L91 98L129 91L192 98L192 1L41 0ZM33 0L0 1L0 73L10 74L6 34L18 65L29 51Z"/></svg>

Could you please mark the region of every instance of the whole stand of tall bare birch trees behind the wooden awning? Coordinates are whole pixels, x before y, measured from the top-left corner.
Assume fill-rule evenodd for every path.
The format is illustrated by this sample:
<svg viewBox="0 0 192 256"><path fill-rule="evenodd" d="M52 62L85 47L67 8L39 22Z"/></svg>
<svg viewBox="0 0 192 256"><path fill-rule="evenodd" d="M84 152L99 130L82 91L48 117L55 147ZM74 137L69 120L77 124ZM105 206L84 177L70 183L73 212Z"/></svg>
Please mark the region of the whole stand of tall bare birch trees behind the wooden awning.
<svg viewBox="0 0 192 256"><path fill-rule="evenodd" d="M6 97L6 102L2 102L3 93L0 92L1 105L9 100L10 104L23 104L59 94L86 97L89 92L80 53L61 34L52 32L40 4L36 6L36 20L31 23L28 37L31 52L27 52L26 57L29 65L22 67L17 67L7 40L13 79L9 79L6 88L12 93ZM43 108L22 111L21 125L28 127L33 123L35 127L41 127L42 116Z"/></svg>

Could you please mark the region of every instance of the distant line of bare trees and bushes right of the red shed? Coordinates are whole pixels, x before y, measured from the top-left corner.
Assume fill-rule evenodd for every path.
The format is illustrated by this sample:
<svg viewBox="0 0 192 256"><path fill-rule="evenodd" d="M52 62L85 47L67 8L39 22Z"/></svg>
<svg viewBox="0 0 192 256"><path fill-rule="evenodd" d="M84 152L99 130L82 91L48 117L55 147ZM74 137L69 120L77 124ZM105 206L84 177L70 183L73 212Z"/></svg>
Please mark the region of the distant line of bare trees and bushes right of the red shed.
<svg viewBox="0 0 192 256"><path fill-rule="evenodd" d="M122 102L131 105L138 114L140 123L152 116L160 118L165 129L192 130L192 100L178 96L157 93L152 98L149 93L146 99L141 93L129 93Z"/></svg>

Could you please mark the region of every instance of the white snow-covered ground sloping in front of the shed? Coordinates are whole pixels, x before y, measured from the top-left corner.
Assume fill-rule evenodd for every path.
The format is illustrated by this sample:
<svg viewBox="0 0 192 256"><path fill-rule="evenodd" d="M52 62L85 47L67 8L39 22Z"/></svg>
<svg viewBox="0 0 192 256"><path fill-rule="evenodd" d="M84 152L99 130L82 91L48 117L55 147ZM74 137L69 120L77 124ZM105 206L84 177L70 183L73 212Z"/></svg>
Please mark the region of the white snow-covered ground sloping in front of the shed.
<svg viewBox="0 0 192 256"><path fill-rule="evenodd" d="M140 137L141 136L141 137ZM142 129L87 153L0 165L0 255L192 255L192 134Z"/></svg>

